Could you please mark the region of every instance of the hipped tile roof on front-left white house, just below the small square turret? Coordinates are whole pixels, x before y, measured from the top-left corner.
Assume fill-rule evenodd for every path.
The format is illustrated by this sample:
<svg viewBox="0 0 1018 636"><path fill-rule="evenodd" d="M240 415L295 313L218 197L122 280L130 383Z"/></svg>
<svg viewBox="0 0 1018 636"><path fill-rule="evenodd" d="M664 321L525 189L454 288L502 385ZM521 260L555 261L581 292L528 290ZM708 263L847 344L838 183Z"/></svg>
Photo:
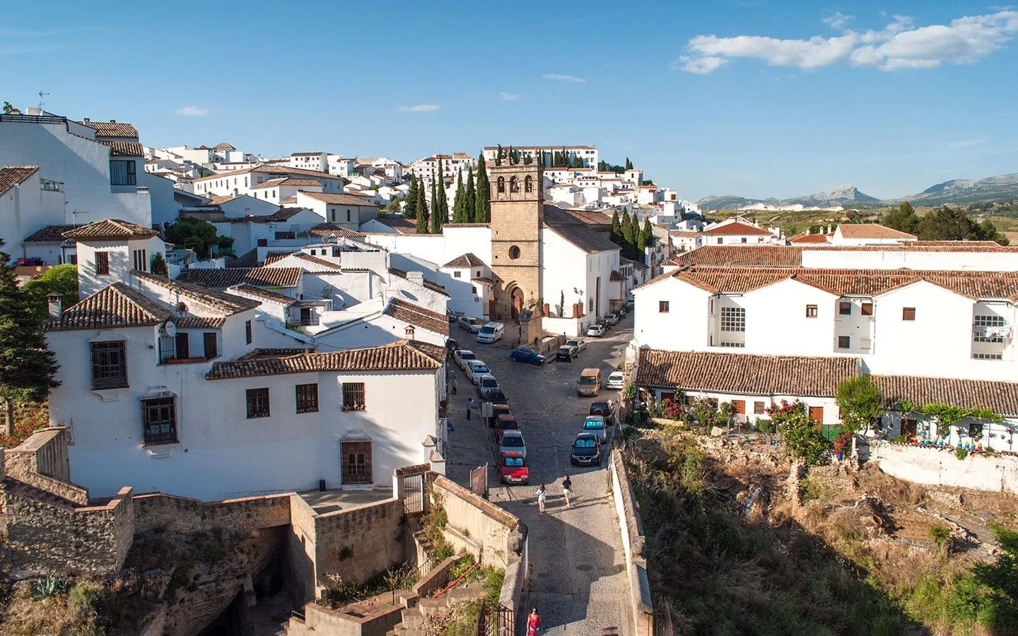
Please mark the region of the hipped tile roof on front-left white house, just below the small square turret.
<svg viewBox="0 0 1018 636"><path fill-rule="evenodd" d="M46 322L48 332L148 327L173 316L169 308L123 283L97 291Z"/></svg>

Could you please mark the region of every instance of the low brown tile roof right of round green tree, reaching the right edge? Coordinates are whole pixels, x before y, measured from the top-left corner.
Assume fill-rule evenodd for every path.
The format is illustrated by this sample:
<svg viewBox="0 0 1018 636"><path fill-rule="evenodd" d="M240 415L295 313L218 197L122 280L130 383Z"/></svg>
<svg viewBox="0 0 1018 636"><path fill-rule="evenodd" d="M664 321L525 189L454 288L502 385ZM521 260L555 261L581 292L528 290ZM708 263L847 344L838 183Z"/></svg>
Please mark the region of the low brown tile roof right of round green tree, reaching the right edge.
<svg viewBox="0 0 1018 636"><path fill-rule="evenodd" d="M901 400L914 404L952 404L966 409L989 409L1005 417L1018 416L1018 383L916 375L873 375L888 408Z"/></svg>

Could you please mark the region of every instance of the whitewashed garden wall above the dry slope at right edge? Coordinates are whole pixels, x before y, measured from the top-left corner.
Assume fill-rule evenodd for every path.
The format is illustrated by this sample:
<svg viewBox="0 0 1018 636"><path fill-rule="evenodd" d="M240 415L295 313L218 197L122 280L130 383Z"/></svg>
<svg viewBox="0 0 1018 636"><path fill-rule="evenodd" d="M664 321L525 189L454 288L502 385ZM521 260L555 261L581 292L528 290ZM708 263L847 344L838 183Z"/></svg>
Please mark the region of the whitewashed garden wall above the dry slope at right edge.
<svg viewBox="0 0 1018 636"><path fill-rule="evenodd" d="M1018 495L1018 456L1015 455L970 453L959 460L954 449L870 440L867 461L874 462L889 475L915 483Z"/></svg>

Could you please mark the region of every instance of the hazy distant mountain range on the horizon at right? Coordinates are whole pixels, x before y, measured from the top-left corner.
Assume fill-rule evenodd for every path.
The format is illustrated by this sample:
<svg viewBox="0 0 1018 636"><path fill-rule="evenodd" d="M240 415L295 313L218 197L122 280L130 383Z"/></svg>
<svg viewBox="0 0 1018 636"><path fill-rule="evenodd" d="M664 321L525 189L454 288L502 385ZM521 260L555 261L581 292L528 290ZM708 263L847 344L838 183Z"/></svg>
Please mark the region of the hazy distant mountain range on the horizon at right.
<svg viewBox="0 0 1018 636"><path fill-rule="evenodd" d="M704 196L696 201L700 210L737 210L744 206L803 205L817 208L842 206L844 208L878 208L910 200L916 206L963 205L984 200L1018 198L1018 173L1004 174L985 179L952 179L930 186L918 194L900 198L880 199L859 191L854 185L839 185L823 192L792 198L745 198L743 196Z"/></svg>

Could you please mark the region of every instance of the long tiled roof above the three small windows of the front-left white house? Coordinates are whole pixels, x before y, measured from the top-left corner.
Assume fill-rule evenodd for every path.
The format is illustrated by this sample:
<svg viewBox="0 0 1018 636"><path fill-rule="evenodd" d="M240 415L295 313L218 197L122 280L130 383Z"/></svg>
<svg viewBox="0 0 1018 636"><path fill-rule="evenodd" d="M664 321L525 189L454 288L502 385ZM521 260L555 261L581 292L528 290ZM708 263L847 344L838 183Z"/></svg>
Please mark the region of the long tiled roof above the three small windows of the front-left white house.
<svg viewBox="0 0 1018 636"><path fill-rule="evenodd" d="M206 379L234 380L322 371L435 371L440 368L442 364L439 361L401 341L365 349L214 362Z"/></svg>

